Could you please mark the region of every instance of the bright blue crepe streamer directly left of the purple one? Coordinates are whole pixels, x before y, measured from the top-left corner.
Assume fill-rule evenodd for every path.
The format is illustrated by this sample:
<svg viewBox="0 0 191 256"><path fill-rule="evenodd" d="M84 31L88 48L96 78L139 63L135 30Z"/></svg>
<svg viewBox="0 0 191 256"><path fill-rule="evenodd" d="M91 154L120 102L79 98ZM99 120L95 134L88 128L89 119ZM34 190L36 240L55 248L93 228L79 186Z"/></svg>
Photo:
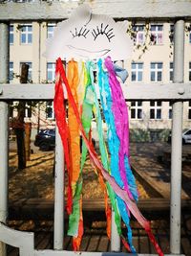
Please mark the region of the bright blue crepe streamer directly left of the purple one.
<svg viewBox="0 0 191 256"><path fill-rule="evenodd" d="M114 104L113 104L112 95L110 91L108 72L103 71L101 59L98 60L97 65L98 65L98 85L99 85L99 91L100 91L100 100L101 100L101 105L103 107L103 114L105 117L105 121L108 126L108 147L111 154L111 170L112 170L111 175L114 176L118 186L123 188L124 182L119 172L120 141L117 136L117 128L115 125L115 118L112 111L112 106L114 106ZM119 121L122 123L123 120L119 120ZM123 176L123 178L126 179L126 176ZM119 197L117 197L117 207L118 207L120 216L128 229L127 237L128 237L128 243L130 245L130 250L132 252L136 252L136 249L132 243L132 230L130 226L130 218L128 213L129 211L126 207L125 202Z"/></svg>

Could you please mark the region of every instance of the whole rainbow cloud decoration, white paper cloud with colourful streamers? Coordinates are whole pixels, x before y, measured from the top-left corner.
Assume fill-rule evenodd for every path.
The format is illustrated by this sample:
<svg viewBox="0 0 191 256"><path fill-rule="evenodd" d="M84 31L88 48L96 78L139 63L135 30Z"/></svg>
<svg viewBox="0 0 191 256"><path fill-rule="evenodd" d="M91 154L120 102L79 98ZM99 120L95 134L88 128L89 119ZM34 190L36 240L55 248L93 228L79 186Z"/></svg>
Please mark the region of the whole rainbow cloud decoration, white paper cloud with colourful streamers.
<svg viewBox="0 0 191 256"><path fill-rule="evenodd" d="M159 255L163 255L149 221L138 210L138 190L129 162L128 108L113 61L130 58L132 47L122 25L108 16L92 13L86 5L60 23L47 43L46 57L56 59L53 104L68 171L68 235L73 237L74 250L80 249L83 236L82 174L89 153L104 194L108 237L111 236L112 207L117 232L128 251L136 252L130 226L133 215L148 233ZM62 60L67 60L65 67ZM126 76L123 69L119 73ZM92 143L93 115L100 157ZM103 122L107 125L107 141ZM80 136L83 138L81 152ZM120 218L127 227L126 236L122 234Z"/></svg>

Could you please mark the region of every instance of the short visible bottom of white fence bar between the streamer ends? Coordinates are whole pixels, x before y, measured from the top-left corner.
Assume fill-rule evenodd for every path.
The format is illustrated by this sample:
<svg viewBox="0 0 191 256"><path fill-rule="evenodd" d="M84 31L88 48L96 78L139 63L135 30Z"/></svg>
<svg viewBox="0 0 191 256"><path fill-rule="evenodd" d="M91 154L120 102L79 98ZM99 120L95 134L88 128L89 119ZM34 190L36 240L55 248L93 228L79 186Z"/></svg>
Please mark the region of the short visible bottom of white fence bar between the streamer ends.
<svg viewBox="0 0 191 256"><path fill-rule="evenodd" d="M115 211L114 210L112 210L111 251L120 251L120 237L117 232L117 225L115 222Z"/></svg>

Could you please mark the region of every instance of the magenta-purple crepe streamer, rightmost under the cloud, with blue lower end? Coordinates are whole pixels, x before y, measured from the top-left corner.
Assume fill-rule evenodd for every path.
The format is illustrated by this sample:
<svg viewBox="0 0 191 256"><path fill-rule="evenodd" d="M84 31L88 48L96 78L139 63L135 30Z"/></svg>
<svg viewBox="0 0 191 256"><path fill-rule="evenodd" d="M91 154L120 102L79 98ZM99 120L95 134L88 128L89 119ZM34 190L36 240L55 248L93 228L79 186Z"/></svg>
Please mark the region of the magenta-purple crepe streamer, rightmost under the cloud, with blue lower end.
<svg viewBox="0 0 191 256"><path fill-rule="evenodd" d="M115 118L117 137L120 141L118 151L120 176L124 184L124 190L127 191L129 198L138 200L136 180L129 166L129 122L127 105L120 84L117 81L111 58L105 58L104 64L109 74L109 84L113 100L112 110Z"/></svg>

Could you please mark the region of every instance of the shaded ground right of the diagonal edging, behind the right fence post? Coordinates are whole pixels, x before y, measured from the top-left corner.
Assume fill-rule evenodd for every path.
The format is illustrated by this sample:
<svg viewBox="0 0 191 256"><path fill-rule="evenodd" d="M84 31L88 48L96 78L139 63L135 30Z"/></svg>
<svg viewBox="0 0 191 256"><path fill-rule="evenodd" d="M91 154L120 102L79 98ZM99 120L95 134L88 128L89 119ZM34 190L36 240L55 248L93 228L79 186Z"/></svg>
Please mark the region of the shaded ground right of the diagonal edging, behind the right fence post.
<svg viewBox="0 0 191 256"><path fill-rule="evenodd" d="M182 152L181 198L191 198L191 146L183 146ZM170 153L167 143L131 145L131 164L135 172L163 198L170 198Z"/></svg>

